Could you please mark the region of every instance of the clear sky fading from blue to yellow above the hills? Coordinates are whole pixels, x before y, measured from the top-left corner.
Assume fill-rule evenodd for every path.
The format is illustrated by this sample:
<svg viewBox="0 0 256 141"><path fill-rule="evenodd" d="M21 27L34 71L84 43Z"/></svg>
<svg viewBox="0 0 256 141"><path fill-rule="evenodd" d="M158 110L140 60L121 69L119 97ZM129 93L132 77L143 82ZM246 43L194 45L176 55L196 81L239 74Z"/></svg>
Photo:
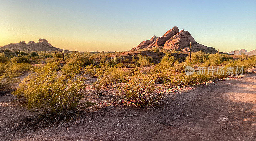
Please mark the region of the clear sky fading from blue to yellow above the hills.
<svg viewBox="0 0 256 141"><path fill-rule="evenodd" d="M251 51L256 1L0 0L0 46L44 38L68 50L126 51L173 26L220 51Z"/></svg>

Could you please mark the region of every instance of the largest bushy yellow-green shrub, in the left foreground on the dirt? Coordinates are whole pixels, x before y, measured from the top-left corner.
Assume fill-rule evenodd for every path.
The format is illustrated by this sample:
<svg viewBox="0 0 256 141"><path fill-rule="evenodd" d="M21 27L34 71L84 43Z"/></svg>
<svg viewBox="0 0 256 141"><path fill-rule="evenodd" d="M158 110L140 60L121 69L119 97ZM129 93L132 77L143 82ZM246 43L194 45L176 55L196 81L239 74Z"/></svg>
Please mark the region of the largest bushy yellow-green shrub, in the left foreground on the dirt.
<svg viewBox="0 0 256 141"><path fill-rule="evenodd" d="M48 63L36 74L32 74L20 83L12 94L23 98L29 110L50 115L50 118L68 119L76 116L79 106L88 107L91 102L82 102L86 97L82 78L73 80L58 75L59 63Z"/></svg>

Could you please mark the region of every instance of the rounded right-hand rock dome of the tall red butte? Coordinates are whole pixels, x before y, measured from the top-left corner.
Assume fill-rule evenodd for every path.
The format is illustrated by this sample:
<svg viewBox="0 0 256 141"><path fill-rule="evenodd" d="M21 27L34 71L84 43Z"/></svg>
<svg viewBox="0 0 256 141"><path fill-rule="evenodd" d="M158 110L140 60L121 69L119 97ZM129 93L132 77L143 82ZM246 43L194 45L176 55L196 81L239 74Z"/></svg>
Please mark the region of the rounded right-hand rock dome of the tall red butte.
<svg viewBox="0 0 256 141"><path fill-rule="evenodd" d="M189 43L196 42L188 31L181 30L164 44L165 49L180 49L185 48Z"/></svg>

